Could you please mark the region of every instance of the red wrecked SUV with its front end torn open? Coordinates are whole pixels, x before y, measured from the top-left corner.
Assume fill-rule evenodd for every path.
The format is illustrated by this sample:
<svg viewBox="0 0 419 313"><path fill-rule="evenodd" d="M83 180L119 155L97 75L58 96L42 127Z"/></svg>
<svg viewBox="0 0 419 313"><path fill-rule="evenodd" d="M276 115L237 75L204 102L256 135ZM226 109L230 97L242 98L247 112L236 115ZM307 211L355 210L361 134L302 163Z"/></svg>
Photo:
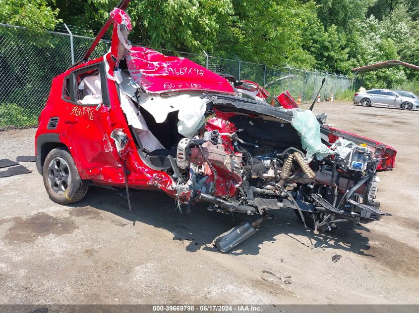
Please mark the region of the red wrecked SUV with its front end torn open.
<svg viewBox="0 0 419 313"><path fill-rule="evenodd" d="M377 172L394 168L392 147L329 127L287 92L270 106L257 84L131 46L121 7L83 60L53 79L40 114L37 168L53 201L107 185L160 189L187 211L206 201L209 210L258 216L214 240L223 252L280 208L317 230L390 215L375 194ZM110 51L88 60L112 23Z"/></svg>

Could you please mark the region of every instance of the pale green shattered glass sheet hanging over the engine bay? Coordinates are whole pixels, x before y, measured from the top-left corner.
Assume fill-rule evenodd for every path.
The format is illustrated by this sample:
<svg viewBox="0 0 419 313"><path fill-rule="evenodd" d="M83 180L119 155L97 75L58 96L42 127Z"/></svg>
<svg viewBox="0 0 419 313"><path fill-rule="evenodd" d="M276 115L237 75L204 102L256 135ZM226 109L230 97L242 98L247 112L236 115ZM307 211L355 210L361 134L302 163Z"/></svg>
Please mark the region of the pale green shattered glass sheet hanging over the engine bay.
<svg viewBox="0 0 419 313"><path fill-rule="evenodd" d="M315 154L317 160L321 160L327 155L334 154L334 151L321 142L320 124L313 112L295 110L291 125L301 134L301 145L307 151L307 158Z"/></svg>

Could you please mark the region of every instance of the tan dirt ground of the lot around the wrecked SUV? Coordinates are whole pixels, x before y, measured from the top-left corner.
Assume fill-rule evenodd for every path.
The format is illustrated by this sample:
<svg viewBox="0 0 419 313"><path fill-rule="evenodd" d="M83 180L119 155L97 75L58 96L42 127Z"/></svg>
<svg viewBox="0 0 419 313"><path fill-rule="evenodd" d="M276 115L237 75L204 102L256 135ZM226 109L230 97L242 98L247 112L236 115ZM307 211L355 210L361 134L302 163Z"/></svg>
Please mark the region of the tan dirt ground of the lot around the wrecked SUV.
<svg viewBox="0 0 419 313"><path fill-rule="evenodd" d="M419 112L343 102L314 111L398 150L377 196L393 217L308 238L283 209L222 254L212 240L240 215L205 205L181 214L156 191L133 192L129 213L126 199L99 187L62 206L48 198L35 163L22 163L33 172L0 179L0 304L418 304ZM0 159L34 155L35 131L0 132Z"/></svg>

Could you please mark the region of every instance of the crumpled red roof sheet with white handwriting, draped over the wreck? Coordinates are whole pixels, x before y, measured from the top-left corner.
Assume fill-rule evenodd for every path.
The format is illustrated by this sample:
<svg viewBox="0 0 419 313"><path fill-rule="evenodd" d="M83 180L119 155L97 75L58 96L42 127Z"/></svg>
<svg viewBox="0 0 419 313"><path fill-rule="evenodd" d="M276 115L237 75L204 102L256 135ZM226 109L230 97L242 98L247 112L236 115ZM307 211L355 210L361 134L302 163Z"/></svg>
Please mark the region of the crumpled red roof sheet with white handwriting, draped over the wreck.
<svg viewBox="0 0 419 313"><path fill-rule="evenodd" d="M180 90L235 94L223 77L188 59L166 56L146 47L132 47L126 54L132 79L147 93Z"/></svg>

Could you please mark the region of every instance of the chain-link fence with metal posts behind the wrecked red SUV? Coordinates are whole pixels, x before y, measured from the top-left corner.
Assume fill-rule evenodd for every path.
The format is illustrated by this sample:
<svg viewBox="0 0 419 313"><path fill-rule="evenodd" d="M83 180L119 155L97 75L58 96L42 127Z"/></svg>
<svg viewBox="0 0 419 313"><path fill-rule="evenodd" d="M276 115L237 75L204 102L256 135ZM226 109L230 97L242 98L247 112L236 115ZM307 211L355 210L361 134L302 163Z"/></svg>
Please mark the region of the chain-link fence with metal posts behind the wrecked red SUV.
<svg viewBox="0 0 419 313"><path fill-rule="evenodd" d="M52 79L81 59L93 41L92 35L80 33L83 30L65 24L58 25L54 32L0 24L0 130L37 125ZM91 58L104 55L109 46L109 40L102 40ZM327 72L266 66L207 54L162 52L188 58L219 74L256 82L271 96L289 90L295 98L301 96L303 103L314 100L323 78L326 82L320 94L322 99L359 88L357 79Z"/></svg>

